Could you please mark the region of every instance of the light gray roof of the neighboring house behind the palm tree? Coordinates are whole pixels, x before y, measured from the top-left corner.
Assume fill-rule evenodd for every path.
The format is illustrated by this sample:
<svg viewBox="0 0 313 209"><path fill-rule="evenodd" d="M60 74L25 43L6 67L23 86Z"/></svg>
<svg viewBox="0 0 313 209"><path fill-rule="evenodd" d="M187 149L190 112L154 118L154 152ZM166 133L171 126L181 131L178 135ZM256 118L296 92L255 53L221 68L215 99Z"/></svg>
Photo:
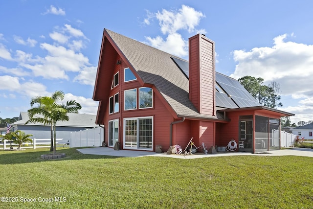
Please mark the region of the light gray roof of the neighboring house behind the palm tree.
<svg viewBox="0 0 313 209"><path fill-rule="evenodd" d="M58 121L57 126L70 126L70 127L96 127L95 119L96 115L68 113L68 121ZM25 122L29 119L27 112L20 113L20 120L14 122L14 125L25 125ZM42 123L28 123L26 125L44 125Z"/></svg>

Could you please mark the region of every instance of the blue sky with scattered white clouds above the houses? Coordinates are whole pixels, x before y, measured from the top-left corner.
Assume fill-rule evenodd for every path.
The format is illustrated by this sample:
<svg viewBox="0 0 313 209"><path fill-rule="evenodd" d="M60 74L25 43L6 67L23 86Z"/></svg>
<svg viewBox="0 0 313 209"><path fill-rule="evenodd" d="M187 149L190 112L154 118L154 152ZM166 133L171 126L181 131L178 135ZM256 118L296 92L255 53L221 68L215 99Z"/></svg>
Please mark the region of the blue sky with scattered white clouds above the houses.
<svg viewBox="0 0 313 209"><path fill-rule="evenodd" d="M0 0L0 117L34 96L92 100L103 29L188 60L188 38L215 42L216 71L280 85L291 123L313 120L312 0Z"/></svg>

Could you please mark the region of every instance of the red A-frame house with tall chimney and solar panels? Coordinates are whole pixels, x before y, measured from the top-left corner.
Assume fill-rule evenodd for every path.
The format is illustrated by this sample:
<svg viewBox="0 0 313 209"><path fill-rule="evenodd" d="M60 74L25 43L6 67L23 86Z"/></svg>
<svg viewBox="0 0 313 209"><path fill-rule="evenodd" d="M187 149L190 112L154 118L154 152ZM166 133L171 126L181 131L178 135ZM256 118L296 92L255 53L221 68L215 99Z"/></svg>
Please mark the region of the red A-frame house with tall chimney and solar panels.
<svg viewBox="0 0 313 209"><path fill-rule="evenodd" d="M93 99L104 141L120 149L163 151L189 140L239 151L280 148L280 117L293 114L260 106L240 85L215 72L215 43L189 39L189 63L104 29Z"/></svg>

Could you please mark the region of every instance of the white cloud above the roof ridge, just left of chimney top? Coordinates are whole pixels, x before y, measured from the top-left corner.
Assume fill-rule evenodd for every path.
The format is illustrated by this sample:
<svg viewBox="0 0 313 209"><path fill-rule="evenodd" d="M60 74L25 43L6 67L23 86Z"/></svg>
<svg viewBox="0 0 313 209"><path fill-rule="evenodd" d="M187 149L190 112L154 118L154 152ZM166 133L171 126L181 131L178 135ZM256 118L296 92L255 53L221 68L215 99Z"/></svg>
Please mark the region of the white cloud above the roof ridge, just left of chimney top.
<svg viewBox="0 0 313 209"><path fill-rule="evenodd" d="M148 36L145 38L151 46L185 57L188 55L188 41L184 40L178 31L187 30L189 33L201 31L201 33L205 34L204 29L196 29L201 18L204 17L204 14L186 5L181 5L181 8L177 11L162 9L161 12L158 11L155 14L147 11L147 18L144 20L144 23L150 24L150 20L156 18L162 34L166 35L166 37L165 40L161 36L155 38Z"/></svg>

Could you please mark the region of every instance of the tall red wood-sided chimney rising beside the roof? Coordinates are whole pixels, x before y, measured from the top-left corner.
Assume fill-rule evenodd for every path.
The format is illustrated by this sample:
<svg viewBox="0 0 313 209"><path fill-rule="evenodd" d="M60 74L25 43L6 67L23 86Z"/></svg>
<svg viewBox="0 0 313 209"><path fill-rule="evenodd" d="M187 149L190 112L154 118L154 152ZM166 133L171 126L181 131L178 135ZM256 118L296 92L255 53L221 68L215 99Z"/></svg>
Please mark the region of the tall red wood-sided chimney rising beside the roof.
<svg viewBox="0 0 313 209"><path fill-rule="evenodd" d="M215 43L204 35L189 38L189 99L199 113L215 112Z"/></svg>

